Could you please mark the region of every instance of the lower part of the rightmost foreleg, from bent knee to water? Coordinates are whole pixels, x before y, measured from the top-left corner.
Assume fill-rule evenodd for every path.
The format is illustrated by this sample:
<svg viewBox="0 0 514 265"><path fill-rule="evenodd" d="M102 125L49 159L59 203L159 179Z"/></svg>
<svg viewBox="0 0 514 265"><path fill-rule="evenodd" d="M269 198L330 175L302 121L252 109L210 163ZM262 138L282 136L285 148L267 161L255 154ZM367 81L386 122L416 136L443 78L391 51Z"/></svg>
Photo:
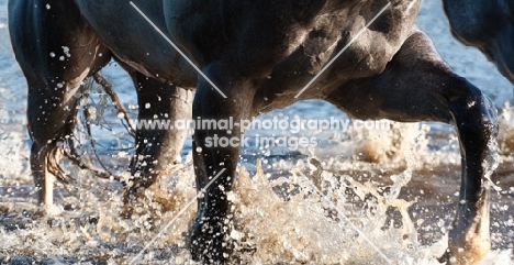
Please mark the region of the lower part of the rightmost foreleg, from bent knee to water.
<svg viewBox="0 0 514 265"><path fill-rule="evenodd" d="M446 261L476 264L491 249L488 176L496 166L496 114L492 103L478 92L455 100L450 108L460 140L462 178Z"/></svg>

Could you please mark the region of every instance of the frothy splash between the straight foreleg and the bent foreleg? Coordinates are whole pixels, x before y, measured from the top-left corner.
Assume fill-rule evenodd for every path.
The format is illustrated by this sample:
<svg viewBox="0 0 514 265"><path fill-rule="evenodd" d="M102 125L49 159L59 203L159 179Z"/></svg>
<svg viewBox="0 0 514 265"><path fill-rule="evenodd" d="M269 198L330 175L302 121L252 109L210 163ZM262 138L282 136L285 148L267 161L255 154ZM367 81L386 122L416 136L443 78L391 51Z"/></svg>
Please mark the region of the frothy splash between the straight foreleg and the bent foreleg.
<svg viewBox="0 0 514 265"><path fill-rule="evenodd" d="M315 158L311 158L311 162L320 163ZM327 167L334 163L337 162L328 162ZM309 163L309 166L313 164ZM380 255L383 253L398 264L398 255L407 257L409 250L416 253L407 258L411 262L432 256L429 253L421 254L417 242L411 241L410 235L415 231L409 214L402 216L405 224L402 228L383 228L389 207L396 207L406 213L410 202L399 200L392 194L383 197L372 184L362 185L350 176L319 167L319 178L313 181L323 190L320 194L302 174L304 167L303 162L299 162L292 170L293 176L275 180L268 180L259 165L254 178L245 170L239 170L238 188L232 201L236 208L236 222L241 227L233 232L233 239L238 242L242 260L262 264L384 264ZM400 186L402 184L396 188ZM284 198L276 190L280 190ZM348 192L355 194L351 200L359 201L359 206L356 201L347 200ZM377 247L381 253L377 253L365 236L372 244L379 245Z"/></svg>

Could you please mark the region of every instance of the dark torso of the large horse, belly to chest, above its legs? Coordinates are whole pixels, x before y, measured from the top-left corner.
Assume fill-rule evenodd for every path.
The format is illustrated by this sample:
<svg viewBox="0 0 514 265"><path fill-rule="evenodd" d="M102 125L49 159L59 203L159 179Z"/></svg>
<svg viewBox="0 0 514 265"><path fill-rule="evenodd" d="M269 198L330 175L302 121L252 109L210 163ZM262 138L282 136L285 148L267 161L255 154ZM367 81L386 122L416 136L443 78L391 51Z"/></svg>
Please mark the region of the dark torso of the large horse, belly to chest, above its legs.
<svg viewBox="0 0 514 265"><path fill-rule="evenodd" d="M161 80L195 86L197 73L130 3L75 1L100 40L119 58ZM418 0L391 1L391 7L366 29L388 1L353 1L343 7L327 3L310 22L291 16L292 11L268 10L259 2L253 2L257 7L252 10L249 3L238 3L241 13L222 12L222 8L201 9L197 7L200 2L189 4L192 11L185 1L166 2L169 7L156 0L134 2L200 67L224 58L233 64L227 70L237 75L273 75L284 80L294 76L300 76L299 80L311 78L328 64L327 73L342 79L381 73L412 32L420 5ZM216 33L213 36L208 34L212 31Z"/></svg>

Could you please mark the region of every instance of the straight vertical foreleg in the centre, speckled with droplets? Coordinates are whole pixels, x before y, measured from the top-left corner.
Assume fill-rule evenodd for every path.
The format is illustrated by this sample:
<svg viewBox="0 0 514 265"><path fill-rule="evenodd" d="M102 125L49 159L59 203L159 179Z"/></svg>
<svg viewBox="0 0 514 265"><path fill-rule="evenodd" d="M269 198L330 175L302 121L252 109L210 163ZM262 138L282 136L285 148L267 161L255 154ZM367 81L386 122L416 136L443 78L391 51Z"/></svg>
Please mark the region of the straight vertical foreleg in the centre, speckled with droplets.
<svg viewBox="0 0 514 265"><path fill-rule="evenodd" d="M202 121L234 121L248 119L253 91L249 85L216 65L205 69L209 77L227 96L224 99L205 80L200 80L193 101L193 117ZM225 235L230 230L231 191L237 165L241 128L230 130L197 128L193 135L193 159L199 191L198 216L191 234L191 254L202 263L222 263L228 256Z"/></svg>

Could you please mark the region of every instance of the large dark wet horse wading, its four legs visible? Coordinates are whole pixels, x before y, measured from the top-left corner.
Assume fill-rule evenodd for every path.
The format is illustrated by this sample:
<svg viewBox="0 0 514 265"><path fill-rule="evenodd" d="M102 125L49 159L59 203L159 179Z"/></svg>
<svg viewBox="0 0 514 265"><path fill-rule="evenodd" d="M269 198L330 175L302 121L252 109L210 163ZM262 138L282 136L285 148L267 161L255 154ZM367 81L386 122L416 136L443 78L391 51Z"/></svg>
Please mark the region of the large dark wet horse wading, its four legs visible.
<svg viewBox="0 0 514 265"><path fill-rule="evenodd" d="M248 120L304 99L361 119L452 124L461 151L460 198L448 262L490 250L489 180L498 119L491 101L456 75L415 26L421 0L25 0L9 1L15 57L29 85L31 168L38 201L52 203L47 172L70 133L86 77L111 59L132 76L139 120ZM195 90L194 97L192 90ZM227 192L244 130L198 128L199 194L190 251L224 263L231 251ZM138 130L124 201L152 185L185 132Z"/></svg>

